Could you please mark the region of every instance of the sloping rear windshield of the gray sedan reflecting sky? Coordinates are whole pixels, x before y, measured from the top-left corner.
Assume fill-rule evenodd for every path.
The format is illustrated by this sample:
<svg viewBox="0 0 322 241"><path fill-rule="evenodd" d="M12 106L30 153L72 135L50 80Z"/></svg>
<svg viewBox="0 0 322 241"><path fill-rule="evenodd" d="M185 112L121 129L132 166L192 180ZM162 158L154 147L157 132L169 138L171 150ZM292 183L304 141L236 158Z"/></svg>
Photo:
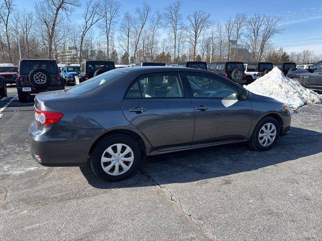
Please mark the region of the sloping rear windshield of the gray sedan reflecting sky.
<svg viewBox="0 0 322 241"><path fill-rule="evenodd" d="M105 72L104 74L100 74L100 75L95 76L89 80L86 80L80 84L77 84L65 91L67 93L72 93L72 94L83 94L83 93L88 92L90 90L96 89L97 87L116 78L120 74L122 74L122 72L108 71L108 72Z"/></svg>

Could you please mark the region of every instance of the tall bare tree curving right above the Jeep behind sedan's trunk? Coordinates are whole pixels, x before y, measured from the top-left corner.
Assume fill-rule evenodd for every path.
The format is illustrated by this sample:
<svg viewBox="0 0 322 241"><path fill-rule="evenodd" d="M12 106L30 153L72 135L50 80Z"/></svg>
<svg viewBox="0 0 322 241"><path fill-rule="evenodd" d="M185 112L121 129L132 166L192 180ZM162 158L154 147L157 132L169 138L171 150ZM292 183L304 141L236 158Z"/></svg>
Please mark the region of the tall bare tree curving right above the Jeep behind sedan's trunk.
<svg viewBox="0 0 322 241"><path fill-rule="evenodd" d="M83 14L84 24L82 26L81 36L79 36L79 45L78 45L78 59L79 62L82 62L83 56L83 44L84 39L88 31L102 19L102 16L99 15L100 3L95 0L89 0L86 3L86 9Z"/></svg>

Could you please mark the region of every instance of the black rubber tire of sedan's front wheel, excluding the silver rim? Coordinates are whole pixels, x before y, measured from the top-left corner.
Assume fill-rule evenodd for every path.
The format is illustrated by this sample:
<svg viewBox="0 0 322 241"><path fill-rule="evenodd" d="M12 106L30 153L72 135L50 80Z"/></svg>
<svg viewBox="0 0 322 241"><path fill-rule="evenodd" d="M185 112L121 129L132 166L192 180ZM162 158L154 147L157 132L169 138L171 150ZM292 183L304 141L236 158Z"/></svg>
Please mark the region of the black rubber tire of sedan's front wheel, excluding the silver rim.
<svg viewBox="0 0 322 241"><path fill-rule="evenodd" d="M264 147L261 145L260 140L259 140L259 134L261 132L262 127L264 127L266 124L271 123L275 126L276 128L276 136L274 141L269 144L268 146ZM280 136L280 126L278 124L278 122L276 121L275 118L271 117L271 116L267 116L264 117L263 119L261 119L261 121L256 125L253 135L252 135L252 140L250 142L250 146L257 150L257 151L267 151L270 150L271 148L273 148L278 140Z"/></svg>

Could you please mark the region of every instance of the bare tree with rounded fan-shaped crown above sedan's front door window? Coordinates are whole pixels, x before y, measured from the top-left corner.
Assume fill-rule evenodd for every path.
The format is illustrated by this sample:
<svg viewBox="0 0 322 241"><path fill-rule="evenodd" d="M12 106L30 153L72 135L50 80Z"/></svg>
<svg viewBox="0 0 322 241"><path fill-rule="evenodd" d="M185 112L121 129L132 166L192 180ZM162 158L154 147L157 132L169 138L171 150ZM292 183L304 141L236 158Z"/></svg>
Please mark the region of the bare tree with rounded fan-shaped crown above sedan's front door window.
<svg viewBox="0 0 322 241"><path fill-rule="evenodd" d="M187 17L189 26L187 27L187 38L192 45L192 59L196 59L196 49L200 34L210 26L210 14L204 11L196 11Z"/></svg>

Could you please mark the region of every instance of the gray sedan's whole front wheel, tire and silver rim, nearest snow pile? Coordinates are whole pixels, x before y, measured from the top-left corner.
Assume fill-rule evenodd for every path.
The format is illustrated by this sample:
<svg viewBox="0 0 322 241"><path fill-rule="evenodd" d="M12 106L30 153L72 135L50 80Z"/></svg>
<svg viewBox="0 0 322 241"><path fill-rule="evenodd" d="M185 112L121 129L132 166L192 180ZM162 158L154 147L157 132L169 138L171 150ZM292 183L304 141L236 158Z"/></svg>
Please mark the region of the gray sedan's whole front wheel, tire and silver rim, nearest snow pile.
<svg viewBox="0 0 322 241"><path fill-rule="evenodd" d="M280 127L275 118L264 117L255 127L251 147L257 151L267 151L274 147L280 133Z"/></svg>

